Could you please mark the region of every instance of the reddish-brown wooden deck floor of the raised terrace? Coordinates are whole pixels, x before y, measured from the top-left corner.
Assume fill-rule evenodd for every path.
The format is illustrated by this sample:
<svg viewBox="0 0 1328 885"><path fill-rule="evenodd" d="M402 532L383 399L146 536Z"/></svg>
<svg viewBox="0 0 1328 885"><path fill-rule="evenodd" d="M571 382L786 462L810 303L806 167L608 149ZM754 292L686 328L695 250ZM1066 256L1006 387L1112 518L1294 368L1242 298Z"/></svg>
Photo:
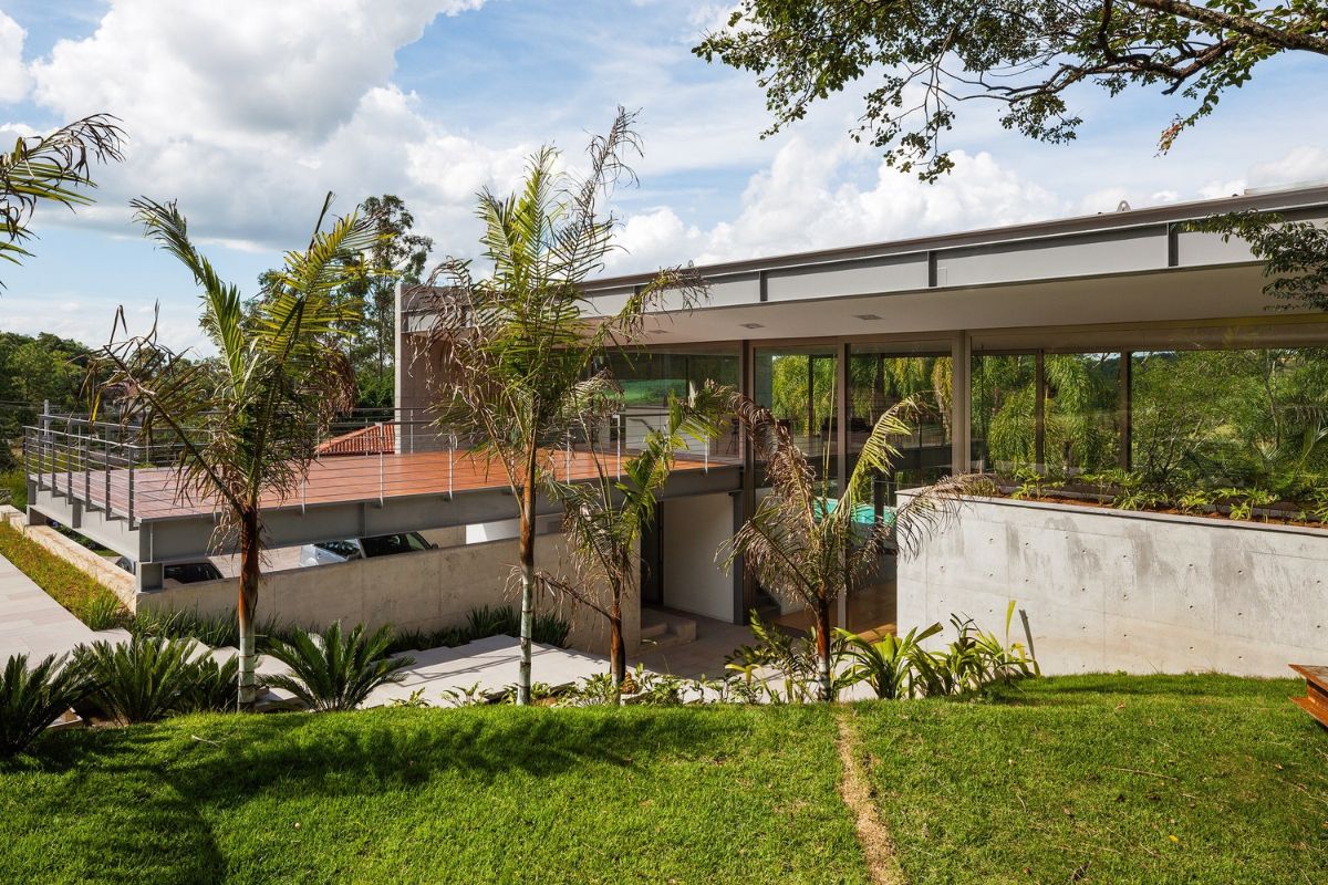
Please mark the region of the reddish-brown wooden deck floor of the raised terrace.
<svg viewBox="0 0 1328 885"><path fill-rule="evenodd" d="M624 455L625 459L627 455ZM559 480L591 479L598 475L595 459L590 452L552 451L546 455L548 464ZM710 467L722 467L728 462L710 460ZM614 471L615 456L604 458L604 466ZM679 459L675 470L705 470L701 460ZM133 471L133 494L130 494L130 471L113 470L72 474L57 471L54 478L44 475L44 484L58 494L89 502L93 507L106 508L108 503L117 516L133 513L134 520L178 519L211 513L212 502L191 500L179 494L174 470L169 467L142 467ZM287 496L270 495L263 499L268 508L300 507L316 504L336 504L413 495L449 495L482 490L506 488L507 479L502 466L470 451L429 451L384 455L341 455L320 458L309 464L308 478L300 488ZM133 498L133 511L130 511Z"/></svg>

